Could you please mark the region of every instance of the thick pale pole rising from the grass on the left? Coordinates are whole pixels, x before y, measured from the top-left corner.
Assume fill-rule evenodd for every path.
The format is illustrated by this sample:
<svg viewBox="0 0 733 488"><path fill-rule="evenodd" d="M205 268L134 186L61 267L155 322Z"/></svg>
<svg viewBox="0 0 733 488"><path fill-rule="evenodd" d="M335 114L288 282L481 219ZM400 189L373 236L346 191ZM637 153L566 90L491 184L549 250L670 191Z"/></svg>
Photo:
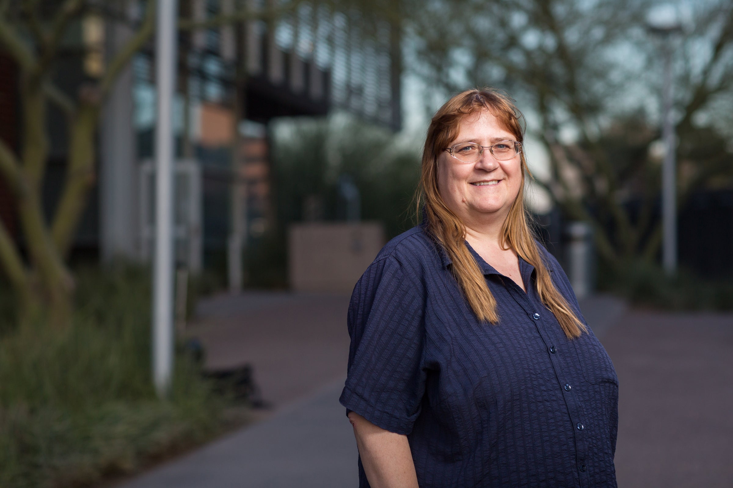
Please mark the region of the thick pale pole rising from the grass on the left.
<svg viewBox="0 0 733 488"><path fill-rule="evenodd" d="M151 1L151 0L149 0ZM155 80L155 258L152 290L152 377L159 397L173 369L173 94L177 73L177 0L158 0Z"/></svg>

